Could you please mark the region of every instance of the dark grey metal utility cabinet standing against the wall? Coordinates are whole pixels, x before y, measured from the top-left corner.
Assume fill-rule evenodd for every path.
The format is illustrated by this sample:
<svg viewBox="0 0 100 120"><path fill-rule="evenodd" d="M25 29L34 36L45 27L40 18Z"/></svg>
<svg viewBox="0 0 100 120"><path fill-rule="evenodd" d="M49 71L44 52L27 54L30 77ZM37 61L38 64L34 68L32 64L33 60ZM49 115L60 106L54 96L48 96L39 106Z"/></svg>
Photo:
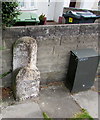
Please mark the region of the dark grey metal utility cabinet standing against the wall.
<svg viewBox="0 0 100 120"><path fill-rule="evenodd" d="M75 93L91 88L98 63L98 53L93 49L71 51L66 80L70 92Z"/></svg>

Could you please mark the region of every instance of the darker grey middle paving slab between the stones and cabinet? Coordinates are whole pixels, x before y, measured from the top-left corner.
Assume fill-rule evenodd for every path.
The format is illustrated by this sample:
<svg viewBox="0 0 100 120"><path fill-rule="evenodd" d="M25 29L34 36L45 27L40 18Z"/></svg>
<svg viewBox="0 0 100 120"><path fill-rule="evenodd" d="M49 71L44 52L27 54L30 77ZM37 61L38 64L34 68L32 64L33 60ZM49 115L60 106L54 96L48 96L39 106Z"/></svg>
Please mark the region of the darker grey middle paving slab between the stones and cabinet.
<svg viewBox="0 0 100 120"><path fill-rule="evenodd" d="M81 108L65 86L51 86L40 91L39 105L51 118L72 118Z"/></svg>

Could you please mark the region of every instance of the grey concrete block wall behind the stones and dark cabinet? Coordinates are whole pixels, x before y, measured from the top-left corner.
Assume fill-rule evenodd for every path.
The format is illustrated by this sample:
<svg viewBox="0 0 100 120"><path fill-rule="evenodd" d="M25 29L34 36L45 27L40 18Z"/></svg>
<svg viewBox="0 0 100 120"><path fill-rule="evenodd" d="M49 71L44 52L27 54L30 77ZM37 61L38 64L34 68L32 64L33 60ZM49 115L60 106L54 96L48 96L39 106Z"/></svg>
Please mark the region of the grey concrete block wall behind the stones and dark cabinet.
<svg viewBox="0 0 100 120"><path fill-rule="evenodd" d="M12 48L23 36L37 40L37 67L41 73L41 84L66 79L70 50L94 48L98 51L98 24L45 25L11 27L3 30L2 69L12 70ZM1 58L0 58L1 59ZM12 73L3 78L3 86L11 86Z"/></svg>

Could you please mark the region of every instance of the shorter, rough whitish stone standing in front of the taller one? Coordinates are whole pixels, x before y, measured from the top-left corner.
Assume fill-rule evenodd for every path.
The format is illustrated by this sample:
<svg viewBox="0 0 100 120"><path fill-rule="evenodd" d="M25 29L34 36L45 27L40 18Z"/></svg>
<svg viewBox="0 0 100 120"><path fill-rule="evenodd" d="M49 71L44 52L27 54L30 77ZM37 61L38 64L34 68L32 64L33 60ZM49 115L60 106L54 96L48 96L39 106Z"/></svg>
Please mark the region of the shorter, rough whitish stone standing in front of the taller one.
<svg viewBox="0 0 100 120"><path fill-rule="evenodd" d="M16 96L20 100L36 97L39 94L40 73L34 69L23 67L16 77Z"/></svg>

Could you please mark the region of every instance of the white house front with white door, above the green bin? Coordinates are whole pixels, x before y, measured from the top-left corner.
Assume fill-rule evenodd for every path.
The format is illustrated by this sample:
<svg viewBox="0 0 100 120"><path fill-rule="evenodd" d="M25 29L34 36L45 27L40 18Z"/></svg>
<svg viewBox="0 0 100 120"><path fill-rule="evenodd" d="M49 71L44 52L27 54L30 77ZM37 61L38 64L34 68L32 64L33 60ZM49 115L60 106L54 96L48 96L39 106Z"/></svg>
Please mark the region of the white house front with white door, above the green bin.
<svg viewBox="0 0 100 120"><path fill-rule="evenodd" d="M47 20L51 19L58 22L59 16L61 16L63 13L64 0L50 0L50 1L51 6L48 6L49 0L34 0L35 6L30 7L31 0L24 0L26 4L25 7L22 8L22 10L32 10L36 12L38 16L40 16L43 13L47 17Z"/></svg>

